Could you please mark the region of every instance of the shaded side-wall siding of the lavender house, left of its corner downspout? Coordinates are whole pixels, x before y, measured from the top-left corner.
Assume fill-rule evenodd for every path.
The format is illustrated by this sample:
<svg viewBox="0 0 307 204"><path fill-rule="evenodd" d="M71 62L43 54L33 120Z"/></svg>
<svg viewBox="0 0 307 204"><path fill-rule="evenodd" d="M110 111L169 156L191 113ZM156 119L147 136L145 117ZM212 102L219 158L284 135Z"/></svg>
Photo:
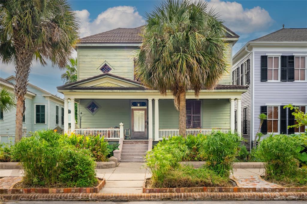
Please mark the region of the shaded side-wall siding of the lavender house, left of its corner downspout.
<svg viewBox="0 0 307 204"><path fill-rule="evenodd" d="M248 85L247 92L242 93L241 95L241 131L242 137L244 138L244 142L242 144L246 145L247 149L250 149L251 144L251 54L245 56L241 61L233 66L232 71L237 69L241 64L246 62L249 59L249 67L250 67L250 84ZM241 77L239 77L239 84L241 83ZM247 108L247 134L243 134L243 109ZM235 111L237 111L237 100L235 100Z"/></svg>

